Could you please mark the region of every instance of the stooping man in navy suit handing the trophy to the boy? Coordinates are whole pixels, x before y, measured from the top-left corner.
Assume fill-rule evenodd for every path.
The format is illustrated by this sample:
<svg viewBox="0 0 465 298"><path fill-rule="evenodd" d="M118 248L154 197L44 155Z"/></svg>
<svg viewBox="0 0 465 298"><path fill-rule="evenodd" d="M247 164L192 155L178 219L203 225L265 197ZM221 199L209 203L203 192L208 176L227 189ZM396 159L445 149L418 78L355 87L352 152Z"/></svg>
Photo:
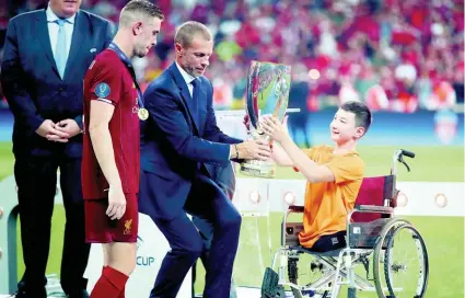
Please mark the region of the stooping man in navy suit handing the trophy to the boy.
<svg viewBox="0 0 465 298"><path fill-rule="evenodd" d="M204 243L186 213L213 226L204 297L226 298L237 250L241 215L205 167L235 159L267 160L269 146L224 135L217 126L212 85L204 71L213 39L209 30L187 22L175 34L176 61L144 93L150 118L141 136L139 210L154 220L171 251L150 297L176 297Z"/></svg>

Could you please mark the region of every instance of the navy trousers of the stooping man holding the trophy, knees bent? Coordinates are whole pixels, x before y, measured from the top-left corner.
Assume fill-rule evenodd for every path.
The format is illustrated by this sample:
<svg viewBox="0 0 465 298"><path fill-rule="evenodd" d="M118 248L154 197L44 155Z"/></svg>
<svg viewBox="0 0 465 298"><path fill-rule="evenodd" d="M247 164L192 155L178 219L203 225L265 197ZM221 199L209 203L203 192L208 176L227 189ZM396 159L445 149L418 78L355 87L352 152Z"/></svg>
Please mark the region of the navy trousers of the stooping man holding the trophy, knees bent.
<svg viewBox="0 0 465 298"><path fill-rule="evenodd" d="M185 210L209 222L214 231L207 260L204 297L228 298L239 244L241 215L208 176L199 174L186 200ZM162 262L150 297L174 298L189 268L204 252L204 241L186 213L172 220L154 219L171 251Z"/></svg>

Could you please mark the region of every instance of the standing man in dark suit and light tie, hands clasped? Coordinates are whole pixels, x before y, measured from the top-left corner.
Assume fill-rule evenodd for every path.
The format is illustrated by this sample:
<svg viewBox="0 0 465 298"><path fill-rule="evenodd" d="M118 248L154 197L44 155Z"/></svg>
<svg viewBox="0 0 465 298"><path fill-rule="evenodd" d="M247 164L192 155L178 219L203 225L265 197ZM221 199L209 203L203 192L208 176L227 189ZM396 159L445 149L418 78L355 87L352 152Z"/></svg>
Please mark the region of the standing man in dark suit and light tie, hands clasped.
<svg viewBox="0 0 465 298"><path fill-rule="evenodd" d="M86 297L90 244L84 241L81 191L82 80L112 41L108 21L79 11L81 0L50 0L46 10L10 20L1 83L14 115L14 175L25 274L16 297L46 297L50 221L57 170L66 209L61 286Z"/></svg>

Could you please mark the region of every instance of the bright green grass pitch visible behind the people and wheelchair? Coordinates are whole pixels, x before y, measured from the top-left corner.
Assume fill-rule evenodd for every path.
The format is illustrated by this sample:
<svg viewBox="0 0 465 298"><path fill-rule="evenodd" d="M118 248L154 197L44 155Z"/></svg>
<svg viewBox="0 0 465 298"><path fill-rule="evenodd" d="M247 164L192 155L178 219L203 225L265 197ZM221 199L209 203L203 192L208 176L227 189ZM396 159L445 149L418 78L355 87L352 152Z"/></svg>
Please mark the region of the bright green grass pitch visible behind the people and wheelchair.
<svg viewBox="0 0 465 298"><path fill-rule="evenodd" d="M385 175L390 173L394 147L360 147L359 152L365 162L365 175ZM399 181L418 182L464 182L463 147L409 147L404 148L417 153L415 159L405 158L411 168L408 173L398 164ZM0 180L13 173L14 158L10 142L0 142ZM241 176L241 174L239 174ZM292 169L278 169L278 179L302 179ZM430 277L427 297L464 297L464 218L463 217L407 217L423 237L430 261ZM271 214L270 230L265 218L244 218L241 231L241 244L234 265L234 278L237 285L259 286L263 266L270 265L268 232L271 239L271 252L278 248L281 214ZM51 221L51 245L47 273L60 271L65 210L55 208ZM258 228L257 228L258 227ZM257 245L256 231L261 248ZM20 232L20 231L19 231ZM20 234L18 237L19 277L24 272ZM263 264L259 264L259 253ZM196 291L204 287L204 268L198 265ZM445 282L446 280L446 282ZM346 294L341 293L341 297ZM360 294L360 297L376 297L375 294Z"/></svg>

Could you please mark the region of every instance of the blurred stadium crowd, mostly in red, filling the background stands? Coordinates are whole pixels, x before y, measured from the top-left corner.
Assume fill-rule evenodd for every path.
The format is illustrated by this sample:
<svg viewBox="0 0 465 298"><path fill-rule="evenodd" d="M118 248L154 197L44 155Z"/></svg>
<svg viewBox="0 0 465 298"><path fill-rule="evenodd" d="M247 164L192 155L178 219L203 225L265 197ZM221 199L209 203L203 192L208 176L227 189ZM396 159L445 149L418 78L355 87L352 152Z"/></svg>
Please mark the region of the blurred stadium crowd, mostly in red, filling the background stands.
<svg viewBox="0 0 465 298"><path fill-rule="evenodd" d="M0 0L0 55L10 18L46 0ZM84 0L82 9L117 23L125 0ZM463 103L462 0L159 0L159 45L138 59L142 89L173 60L185 20L209 25L217 108L242 108L251 60L292 66L290 106L317 111L350 100L411 113ZM1 96L1 90L0 90Z"/></svg>

